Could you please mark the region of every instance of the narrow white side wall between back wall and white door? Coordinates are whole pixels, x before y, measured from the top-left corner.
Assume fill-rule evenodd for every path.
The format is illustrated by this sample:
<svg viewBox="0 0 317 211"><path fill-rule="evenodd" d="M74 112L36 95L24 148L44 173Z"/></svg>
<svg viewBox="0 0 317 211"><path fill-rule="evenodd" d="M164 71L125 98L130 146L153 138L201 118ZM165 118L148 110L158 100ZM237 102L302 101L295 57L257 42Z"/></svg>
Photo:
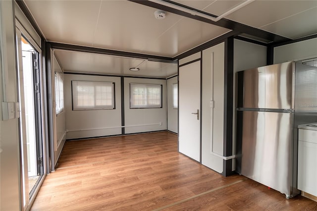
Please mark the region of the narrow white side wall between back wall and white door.
<svg viewBox="0 0 317 211"><path fill-rule="evenodd" d="M178 83L178 76L166 80L167 84L167 130L178 133L178 109L173 108L173 84Z"/></svg>

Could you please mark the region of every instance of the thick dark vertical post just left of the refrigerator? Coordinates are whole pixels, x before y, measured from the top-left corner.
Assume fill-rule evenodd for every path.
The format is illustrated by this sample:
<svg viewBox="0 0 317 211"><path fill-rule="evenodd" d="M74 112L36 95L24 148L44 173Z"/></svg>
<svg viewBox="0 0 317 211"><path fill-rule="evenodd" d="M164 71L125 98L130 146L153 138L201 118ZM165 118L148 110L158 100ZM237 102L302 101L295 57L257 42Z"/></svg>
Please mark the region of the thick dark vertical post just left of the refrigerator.
<svg viewBox="0 0 317 211"><path fill-rule="evenodd" d="M232 118L233 118L233 37L224 42L224 121L223 156L232 155ZM223 160L223 176L232 173L232 159Z"/></svg>

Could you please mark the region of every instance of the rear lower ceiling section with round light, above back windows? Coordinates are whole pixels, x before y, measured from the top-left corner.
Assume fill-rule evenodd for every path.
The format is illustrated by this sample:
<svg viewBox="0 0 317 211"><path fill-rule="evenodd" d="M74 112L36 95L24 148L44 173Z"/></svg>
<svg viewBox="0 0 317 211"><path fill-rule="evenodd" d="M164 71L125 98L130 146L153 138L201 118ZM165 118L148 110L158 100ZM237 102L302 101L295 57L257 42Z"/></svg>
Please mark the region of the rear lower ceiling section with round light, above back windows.
<svg viewBox="0 0 317 211"><path fill-rule="evenodd" d="M54 50L64 72L168 78L177 74L177 63L149 61L98 53ZM138 67L137 72L130 71Z"/></svg>

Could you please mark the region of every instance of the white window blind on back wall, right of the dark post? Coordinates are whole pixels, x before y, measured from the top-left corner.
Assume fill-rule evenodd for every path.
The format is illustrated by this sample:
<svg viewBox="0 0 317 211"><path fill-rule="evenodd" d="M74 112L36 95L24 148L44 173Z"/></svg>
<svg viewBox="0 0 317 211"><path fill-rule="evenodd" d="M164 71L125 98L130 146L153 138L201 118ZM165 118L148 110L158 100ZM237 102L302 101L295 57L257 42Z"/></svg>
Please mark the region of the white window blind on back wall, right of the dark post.
<svg viewBox="0 0 317 211"><path fill-rule="evenodd" d="M130 108L162 107L162 85L130 84Z"/></svg>

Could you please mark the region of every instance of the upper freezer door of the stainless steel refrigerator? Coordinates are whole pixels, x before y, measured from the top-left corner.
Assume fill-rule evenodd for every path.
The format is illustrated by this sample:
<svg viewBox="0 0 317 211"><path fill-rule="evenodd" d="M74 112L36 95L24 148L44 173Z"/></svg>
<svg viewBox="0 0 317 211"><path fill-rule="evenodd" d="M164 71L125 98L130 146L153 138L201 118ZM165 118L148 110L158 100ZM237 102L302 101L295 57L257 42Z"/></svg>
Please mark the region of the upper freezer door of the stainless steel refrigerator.
<svg viewBox="0 0 317 211"><path fill-rule="evenodd" d="M295 63L285 62L237 73L238 107L294 109Z"/></svg>

